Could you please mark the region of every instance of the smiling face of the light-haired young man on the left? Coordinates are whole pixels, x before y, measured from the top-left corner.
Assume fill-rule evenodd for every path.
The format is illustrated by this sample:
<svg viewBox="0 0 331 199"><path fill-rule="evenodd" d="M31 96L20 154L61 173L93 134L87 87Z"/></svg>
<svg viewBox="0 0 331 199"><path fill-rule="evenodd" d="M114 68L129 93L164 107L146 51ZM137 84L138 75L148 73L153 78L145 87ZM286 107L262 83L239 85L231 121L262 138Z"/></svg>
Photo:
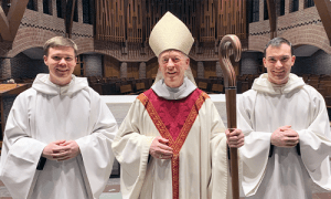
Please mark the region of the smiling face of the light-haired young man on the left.
<svg viewBox="0 0 331 199"><path fill-rule="evenodd" d="M71 82L77 57L73 48L55 46L49 49L44 62L49 66L51 82L62 86Z"/></svg>

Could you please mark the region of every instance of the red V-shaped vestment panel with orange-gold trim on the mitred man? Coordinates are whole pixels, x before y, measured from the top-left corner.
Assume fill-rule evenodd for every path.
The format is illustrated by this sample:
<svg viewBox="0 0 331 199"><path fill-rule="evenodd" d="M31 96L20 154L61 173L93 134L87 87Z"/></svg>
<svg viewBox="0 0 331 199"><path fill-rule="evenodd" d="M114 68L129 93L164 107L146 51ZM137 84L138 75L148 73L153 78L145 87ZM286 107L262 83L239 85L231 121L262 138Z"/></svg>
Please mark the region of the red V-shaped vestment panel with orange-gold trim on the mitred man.
<svg viewBox="0 0 331 199"><path fill-rule="evenodd" d="M169 139L169 146L173 149L171 159L173 199L179 199L179 153L199 114L199 109L209 97L206 93L199 88L182 100L164 100L159 97L152 90L148 90L138 96L160 135Z"/></svg>

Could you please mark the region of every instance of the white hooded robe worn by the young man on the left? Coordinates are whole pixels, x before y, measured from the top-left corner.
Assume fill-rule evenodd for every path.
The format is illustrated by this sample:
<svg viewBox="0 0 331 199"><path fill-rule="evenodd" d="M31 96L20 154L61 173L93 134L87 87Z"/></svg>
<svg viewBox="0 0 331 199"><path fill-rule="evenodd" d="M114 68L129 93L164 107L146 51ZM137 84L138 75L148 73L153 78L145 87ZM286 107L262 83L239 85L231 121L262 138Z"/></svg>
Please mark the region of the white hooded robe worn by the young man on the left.
<svg viewBox="0 0 331 199"><path fill-rule="evenodd" d="M40 74L9 114L1 180L13 199L98 199L111 172L116 133L114 116L86 78L73 76L60 87ZM64 161L47 159L36 170L43 148L60 139L75 140L81 154Z"/></svg>

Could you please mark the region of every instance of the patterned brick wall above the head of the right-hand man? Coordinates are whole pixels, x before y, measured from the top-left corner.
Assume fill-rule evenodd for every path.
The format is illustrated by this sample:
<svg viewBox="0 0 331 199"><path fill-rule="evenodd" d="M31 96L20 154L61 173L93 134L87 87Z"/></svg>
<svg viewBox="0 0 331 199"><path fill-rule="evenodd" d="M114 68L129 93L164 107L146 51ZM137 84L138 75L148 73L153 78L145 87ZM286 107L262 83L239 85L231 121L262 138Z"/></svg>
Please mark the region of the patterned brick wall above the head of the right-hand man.
<svg viewBox="0 0 331 199"><path fill-rule="evenodd" d="M270 40L269 20L263 20L263 1L260 0L260 18L258 22L249 23L248 50L263 52ZM316 7L303 9L303 1L299 1L299 10L290 12L289 0L285 3L285 15L277 18L277 36L289 40L293 45L316 45L331 54L331 46L325 30ZM277 4L279 9L279 6ZM277 14L279 12L277 11Z"/></svg>

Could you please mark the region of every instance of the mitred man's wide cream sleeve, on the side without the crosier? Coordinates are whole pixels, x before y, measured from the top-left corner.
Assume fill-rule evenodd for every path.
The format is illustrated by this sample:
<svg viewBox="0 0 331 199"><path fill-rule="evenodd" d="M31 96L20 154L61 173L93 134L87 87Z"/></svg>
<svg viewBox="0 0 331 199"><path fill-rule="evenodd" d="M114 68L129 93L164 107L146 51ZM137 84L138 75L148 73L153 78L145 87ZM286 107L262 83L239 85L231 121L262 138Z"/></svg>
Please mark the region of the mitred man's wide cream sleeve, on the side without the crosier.
<svg viewBox="0 0 331 199"><path fill-rule="evenodd" d="M149 148L154 138L141 133L146 112L141 102L136 100L113 144L114 154L120 163L120 190L124 199L137 199L146 177Z"/></svg>

